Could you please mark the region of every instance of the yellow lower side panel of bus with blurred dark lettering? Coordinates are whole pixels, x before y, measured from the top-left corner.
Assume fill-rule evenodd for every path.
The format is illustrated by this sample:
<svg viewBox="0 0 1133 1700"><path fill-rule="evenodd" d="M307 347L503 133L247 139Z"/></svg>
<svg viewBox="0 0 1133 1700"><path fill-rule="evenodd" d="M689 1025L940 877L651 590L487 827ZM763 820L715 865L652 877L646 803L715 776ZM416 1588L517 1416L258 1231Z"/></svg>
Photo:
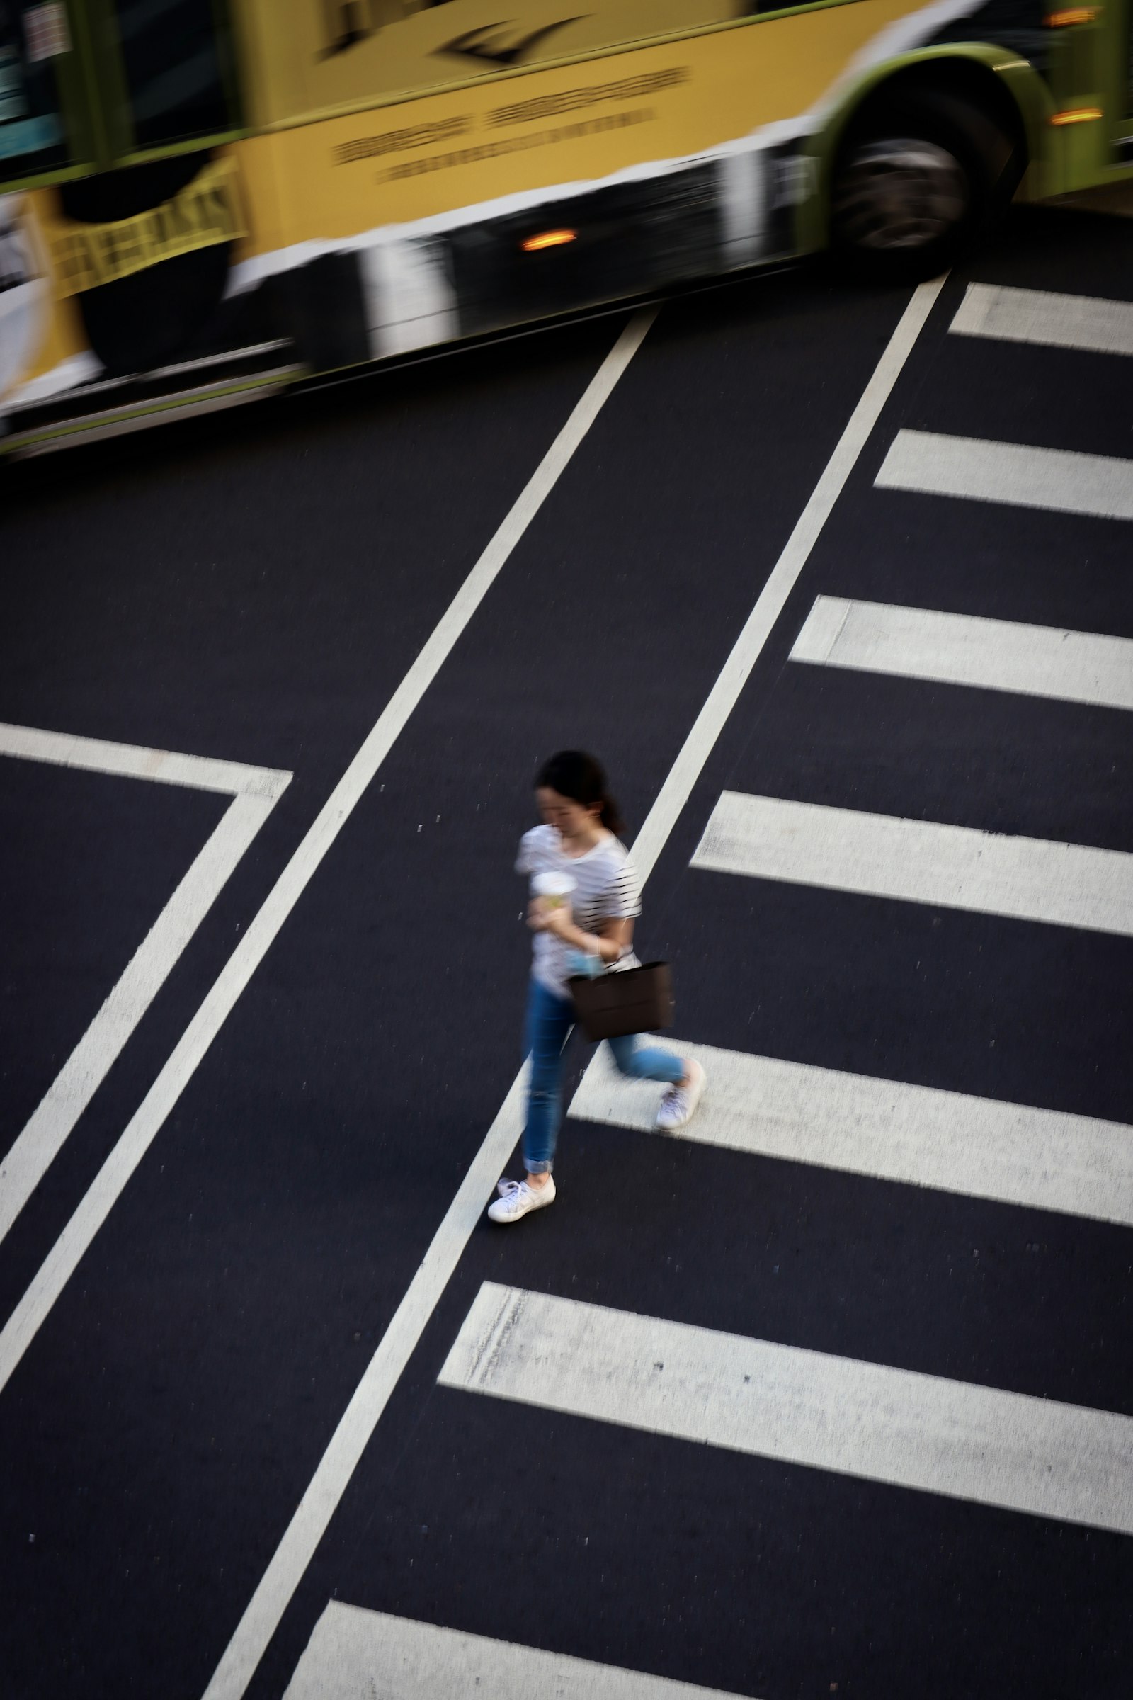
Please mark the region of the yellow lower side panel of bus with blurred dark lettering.
<svg viewBox="0 0 1133 1700"><path fill-rule="evenodd" d="M909 0L856 0L280 131L270 146L289 218L301 240L467 219L769 126L802 134L853 58L907 14Z"/></svg>

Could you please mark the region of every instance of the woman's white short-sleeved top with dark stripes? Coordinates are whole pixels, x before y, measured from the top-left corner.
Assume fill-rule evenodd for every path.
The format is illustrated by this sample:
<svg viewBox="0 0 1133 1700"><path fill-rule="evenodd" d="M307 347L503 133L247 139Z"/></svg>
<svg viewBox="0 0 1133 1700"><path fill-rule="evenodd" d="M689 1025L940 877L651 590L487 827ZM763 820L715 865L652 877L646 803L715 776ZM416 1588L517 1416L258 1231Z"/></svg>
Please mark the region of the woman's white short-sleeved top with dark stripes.
<svg viewBox="0 0 1133 1700"><path fill-rule="evenodd" d="M569 874L576 889L571 892L571 918L586 933L598 932L601 921L625 921L640 915L640 882L630 853L620 838L610 833L586 855L567 855L554 826L532 826L520 838L516 874ZM559 998L569 996L567 979L578 972L574 945L564 944L554 933L535 933L532 945L532 974ZM625 950L610 969L637 967L637 957Z"/></svg>

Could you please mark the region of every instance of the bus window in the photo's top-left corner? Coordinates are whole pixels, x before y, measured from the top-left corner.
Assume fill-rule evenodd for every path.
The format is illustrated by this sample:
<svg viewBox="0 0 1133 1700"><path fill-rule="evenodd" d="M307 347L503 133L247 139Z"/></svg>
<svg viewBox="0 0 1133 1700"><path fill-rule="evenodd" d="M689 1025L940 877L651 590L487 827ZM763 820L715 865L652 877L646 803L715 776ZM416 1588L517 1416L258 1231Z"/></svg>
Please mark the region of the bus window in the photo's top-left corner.
<svg viewBox="0 0 1133 1700"><path fill-rule="evenodd" d="M70 53L61 5L0 0L0 178L70 162L56 61Z"/></svg>

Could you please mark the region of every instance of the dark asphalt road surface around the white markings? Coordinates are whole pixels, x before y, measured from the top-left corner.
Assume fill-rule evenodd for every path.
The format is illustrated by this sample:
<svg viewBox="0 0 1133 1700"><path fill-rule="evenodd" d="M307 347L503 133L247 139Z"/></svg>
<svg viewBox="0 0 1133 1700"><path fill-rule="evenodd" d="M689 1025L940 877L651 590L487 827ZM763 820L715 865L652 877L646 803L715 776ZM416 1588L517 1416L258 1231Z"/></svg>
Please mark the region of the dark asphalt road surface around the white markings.
<svg viewBox="0 0 1133 1700"><path fill-rule="evenodd" d="M194 1700L233 1637L250 1681L217 1695L279 1697L299 1669L296 1695L464 1700L472 1644L443 1637L443 1683L397 1686L404 1671L374 1664L372 1690L350 1686L333 1637L348 1620L401 1658L389 1617L508 1644L513 1688L476 1644L476 1692L499 1695L554 1692L530 1649L593 1661L596 1681L640 1673L627 1700L661 1695L659 1678L758 1700L1128 1695L1131 722L1096 685L1048 694L1041 661L1011 688L997 668L1012 632L1033 658L1033 627L1133 639L1130 518L1097 512L1130 500L1130 360L950 325L973 280L1133 318L1131 262L1128 219L1021 211L946 280L719 738L693 740L639 925L674 964L673 1044L713 1047L719 1088L753 1057L795 1064L792 1091L839 1071L890 1083L914 1127L927 1100L905 1088L965 1095L933 1100L943 1144L951 1120L978 1144L997 1105L1024 1107L1016 1178L956 1146L933 1180L941 1141L904 1173L853 1139L824 1158L805 1098L812 1144L773 1149L753 1095L729 1122L712 1083L700 1137L579 1114L554 1209L476 1226L409 1323L403 1300L438 1236L455 1244L447 1212L520 1064L511 864L535 767L595 748L630 830L644 821L910 292L802 269L668 303L314 864L319 811L629 316L8 473L0 721L117 755L66 767L56 741L49 760L0 760L0 1149L46 1114L155 918L231 828L221 780L105 768L139 746L292 777L136 991L112 1066L0 1239L3 1700ZM1104 464L1045 461L1012 502L927 493L890 476L899 432L982 444L968 478L999 479L1002 444ZM902 442L938 464L936 435ZM1079 500L1097 478L1109 495ZM912 677L909 644L890 672L790 660L819 597L956 615L990 682ZM1126 695L1131 653L1106 651ZM797 804L832 872L691 865L724 792ZM914 823L907 848L858 855L846 831L865 816ZM967 836L917 831L933 823ZM1038 872L1012 864L999 896L956 898L948 858L980 860L989 831L1038 843ZM1116 855L1067 870L1043 860L1051 845ZM306 882L270 947L114 1183L296 855ZM922 889L895 894L905 876ZM1109 920L1067 920L1058 903L1089 908L1094 887ZM1075 1168L1058 1204L1057 1153L1087 1139L1101 1193L1075 1202ZM0 1204L12 1175L8 1159ZM491 1384L493 1365L511 1374L504 1340L471 1391L445 1365L484 1282L598 1307L600 1331L656 1319L657 1340L724 1367L742 1352L722 1334L790 1348L817 1404L785 1394L778 1440L749 1443L747 1418L720 1426L712 1382L707 1428L686 1433L612 1348L603 1416L569 1353L552 1394L523 1379L521 1306L513 1389ZM408 1362L370 1399L369 1440L360 1418L357 1469L313 1550L268 1571L399 1306ZM893 1377L851 1409L870 1365ZM897 1433L916 1389L941 1411L968 1389L1002 1397L982 1440L944 1418L936 1433L931 1413ZM1079 1409L1070 1462L1048 1469L1041 1425ZM1113 1414L1109 1465L1094 1413ZM837 1450L854 1425L888 1462ZM941 1464L956 1447L967 1486ZM1045 1510L1036 1481L1058 1486L1058 1469L1079 1511ZM324 1617L328 1601L360 1610Z"/></svg>

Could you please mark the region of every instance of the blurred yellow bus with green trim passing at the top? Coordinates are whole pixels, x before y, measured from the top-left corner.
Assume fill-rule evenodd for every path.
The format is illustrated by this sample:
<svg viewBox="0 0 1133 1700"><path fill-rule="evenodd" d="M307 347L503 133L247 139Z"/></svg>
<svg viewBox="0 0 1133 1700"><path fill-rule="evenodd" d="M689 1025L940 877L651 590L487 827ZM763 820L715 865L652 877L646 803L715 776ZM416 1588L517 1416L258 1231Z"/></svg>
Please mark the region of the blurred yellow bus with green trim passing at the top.
<svg viewBox="0 0 1133 1700"><path fill-rule="evenodd" d="M1133 173L1133 0L0 0L0 447Z"/></svg>

